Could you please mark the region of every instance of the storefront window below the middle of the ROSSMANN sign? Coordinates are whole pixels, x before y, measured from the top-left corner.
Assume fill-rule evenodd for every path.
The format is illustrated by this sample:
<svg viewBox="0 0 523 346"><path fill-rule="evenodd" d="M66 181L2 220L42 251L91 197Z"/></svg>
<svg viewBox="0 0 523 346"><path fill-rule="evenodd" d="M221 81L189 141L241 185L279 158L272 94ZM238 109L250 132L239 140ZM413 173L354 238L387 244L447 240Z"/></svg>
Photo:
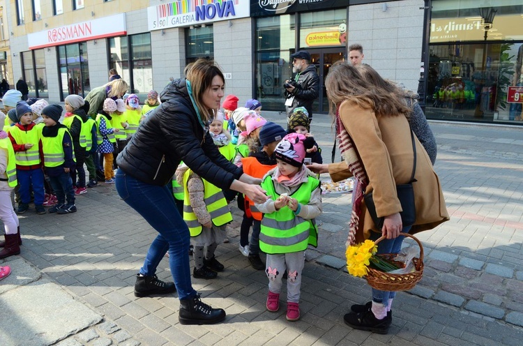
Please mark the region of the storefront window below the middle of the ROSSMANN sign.
<svg viewBox="0 0 523 346"><path fill-rule="evenodd" d="M91 91L86 43L58 47L61 100L69 95L85 97Z"/></svg>

